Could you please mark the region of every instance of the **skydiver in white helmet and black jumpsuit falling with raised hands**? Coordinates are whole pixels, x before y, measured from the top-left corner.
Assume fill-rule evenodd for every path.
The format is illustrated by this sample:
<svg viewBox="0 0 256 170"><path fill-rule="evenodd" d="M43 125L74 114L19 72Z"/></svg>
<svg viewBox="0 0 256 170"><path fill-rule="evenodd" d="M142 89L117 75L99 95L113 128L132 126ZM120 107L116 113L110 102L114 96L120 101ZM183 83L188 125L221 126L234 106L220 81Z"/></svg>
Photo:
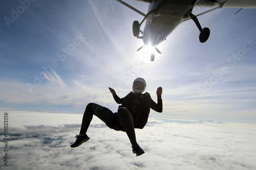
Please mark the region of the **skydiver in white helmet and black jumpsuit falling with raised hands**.
<svg viewBox="0 0 256 170"><path fill-rule="evenodd" d="M162 112L162 87L157 89L157 103L155 103L149 93L145 92L146 82L143 78L137 78L133 82L133 92L127 94L124 98L119 98L115 90L109 87L113 94L114 100L119 106L117 113L113 113L110 109L100 105L90 103L87 105L83 113L82 124L79 135L76 135L76 141L71 145L71 148L78 147L83 142L90 138L86 132L91 123L93 115L100 118L106 126L116 131L126 132L129 137L133 153L136 156L142 155L145 152L139 147L136 141L134 128L143 129L147 123L150 108L157 112Z"/></svg>

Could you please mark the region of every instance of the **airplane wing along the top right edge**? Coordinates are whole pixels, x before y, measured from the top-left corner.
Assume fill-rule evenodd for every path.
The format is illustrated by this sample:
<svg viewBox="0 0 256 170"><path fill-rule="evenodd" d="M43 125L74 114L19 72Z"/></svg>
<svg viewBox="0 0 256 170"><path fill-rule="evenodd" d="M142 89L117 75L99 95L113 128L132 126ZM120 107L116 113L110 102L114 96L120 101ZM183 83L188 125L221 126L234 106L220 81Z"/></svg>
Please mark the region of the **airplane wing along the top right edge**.
<svg viewBox="0 0 256 170"><path fill-rule="evenodd" d="M217 7L225 2L222 8L256 8L256 0L200 0L196 7Z"/></svg>

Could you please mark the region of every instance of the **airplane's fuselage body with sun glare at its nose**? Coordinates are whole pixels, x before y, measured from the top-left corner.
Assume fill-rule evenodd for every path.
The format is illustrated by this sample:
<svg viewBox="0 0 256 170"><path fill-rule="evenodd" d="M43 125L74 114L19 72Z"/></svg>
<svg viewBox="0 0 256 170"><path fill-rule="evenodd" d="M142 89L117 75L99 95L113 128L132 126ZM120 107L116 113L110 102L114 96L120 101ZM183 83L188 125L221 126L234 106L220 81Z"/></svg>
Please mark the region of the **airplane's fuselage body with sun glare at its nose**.
<svg viewBox="0 0 256 170"><path fill-rule="evenodd" d="M195 0L154 0L148 7L153 14L146 19L143 42L145 45L156 46L174 31L186 19L186 13L192 10Z"/></svg>

